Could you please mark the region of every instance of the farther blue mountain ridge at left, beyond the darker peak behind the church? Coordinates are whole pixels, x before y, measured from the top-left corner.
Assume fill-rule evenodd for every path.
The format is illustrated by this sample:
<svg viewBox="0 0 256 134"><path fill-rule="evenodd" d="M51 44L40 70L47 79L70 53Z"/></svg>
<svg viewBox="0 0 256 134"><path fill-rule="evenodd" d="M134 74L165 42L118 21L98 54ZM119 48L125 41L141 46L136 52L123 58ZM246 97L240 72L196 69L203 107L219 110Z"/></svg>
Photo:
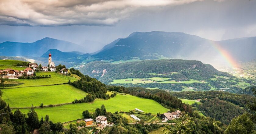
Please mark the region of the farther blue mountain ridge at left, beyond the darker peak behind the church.
<svg viewBox="0 0 256 134"><path fill-rule="evenodd" d="M49 49L60 51L85 51L85 49L68 41L45 37L33 43L3 42L0 44L0 53L4 56L29 56L40 57ZM13 49L10 49L13 48Z"/></svg>

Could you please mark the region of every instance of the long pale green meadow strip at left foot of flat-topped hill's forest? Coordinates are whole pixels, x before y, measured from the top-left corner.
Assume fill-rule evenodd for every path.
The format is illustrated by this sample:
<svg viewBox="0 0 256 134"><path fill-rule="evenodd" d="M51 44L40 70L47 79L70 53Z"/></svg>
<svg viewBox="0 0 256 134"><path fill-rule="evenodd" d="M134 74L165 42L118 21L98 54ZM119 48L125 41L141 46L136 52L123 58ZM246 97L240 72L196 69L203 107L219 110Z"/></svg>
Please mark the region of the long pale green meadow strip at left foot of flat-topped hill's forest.
<svg viewBox="0 0 256 134"><path fill-rule="evenodd" d="M133 79L133 80L132 80ZM140 78L128 78L128 79L114 79L113 82L110 84L125 84L125 83L133 83L133 84L138 84L138 83L153 83L153 81L165 81L169 80L170 78L162 78L162 77L152 77L148 78L149 80L144 79L145 81L142 81Z"/></svg>

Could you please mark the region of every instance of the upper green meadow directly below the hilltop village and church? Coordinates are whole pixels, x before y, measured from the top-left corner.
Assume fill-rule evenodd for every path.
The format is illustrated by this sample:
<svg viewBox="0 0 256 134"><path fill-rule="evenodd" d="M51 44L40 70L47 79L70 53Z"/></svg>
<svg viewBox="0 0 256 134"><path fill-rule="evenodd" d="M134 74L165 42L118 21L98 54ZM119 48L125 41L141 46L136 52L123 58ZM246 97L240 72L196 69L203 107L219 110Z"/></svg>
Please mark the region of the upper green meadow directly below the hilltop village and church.
<svg viewBox="0 0 256 134"><path fill-rule="evenodd" d="M71 82L78 80L78 76L72 77L72 76L64 76L62 74L56 73L56 72L37 72L37 76L39 75L51 75L51 78L43 78L43 79L6 79L6 81L15 81L19 83L24 83L18 86L12 86L13 87L24 87L24 86L42 86L42 85L53 85L53 84L61 84L61 83L67 83L69 82L69 79Z"/></svg>

